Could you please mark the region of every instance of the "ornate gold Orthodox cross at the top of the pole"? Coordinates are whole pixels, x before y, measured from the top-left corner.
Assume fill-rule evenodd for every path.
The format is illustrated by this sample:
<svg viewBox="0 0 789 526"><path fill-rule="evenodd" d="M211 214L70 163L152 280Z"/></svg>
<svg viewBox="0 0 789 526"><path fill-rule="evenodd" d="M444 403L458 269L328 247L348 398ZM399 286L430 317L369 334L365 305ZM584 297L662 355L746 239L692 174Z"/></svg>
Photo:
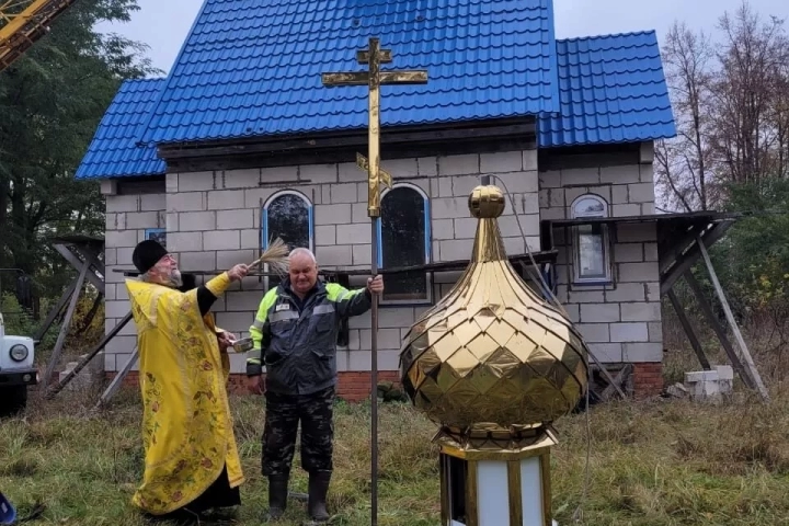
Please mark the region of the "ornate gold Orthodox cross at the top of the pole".
<svg viewBox="0 0 789 526"><path fill-rule="evenodd" d="M362 170L367 170L367 215L373 218L380 216L380 184L384 183L391 188L391 176L380 169L380 85L427 83L427 71L425 70L380 71L380 65L391 62L391 49L381 49L378 38L370 38L369 49L356 52L356 61L369 65L368 71L321 75L323 85L330 88L368 85L368 159L357 153L356 165Z"/></svg>

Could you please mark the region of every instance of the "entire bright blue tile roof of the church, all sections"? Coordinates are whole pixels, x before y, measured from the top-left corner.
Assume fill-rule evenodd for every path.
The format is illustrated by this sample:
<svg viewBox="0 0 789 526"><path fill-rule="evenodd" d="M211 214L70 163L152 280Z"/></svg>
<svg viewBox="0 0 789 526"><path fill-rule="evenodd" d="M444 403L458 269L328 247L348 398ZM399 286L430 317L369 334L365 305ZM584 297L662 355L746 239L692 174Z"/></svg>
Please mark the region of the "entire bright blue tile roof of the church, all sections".
<svg viewBox="0 0 789 526"><path fill-rule="evenodd" d="M382 88L385 125L537 114L540 148L676 135L655 33L556 41L552 0L205 0L170 76L121 87L77 179L164 173L162 142L364 128L366 88L320 73L361 70L371 34L387 67L428 69Z"/></svg>

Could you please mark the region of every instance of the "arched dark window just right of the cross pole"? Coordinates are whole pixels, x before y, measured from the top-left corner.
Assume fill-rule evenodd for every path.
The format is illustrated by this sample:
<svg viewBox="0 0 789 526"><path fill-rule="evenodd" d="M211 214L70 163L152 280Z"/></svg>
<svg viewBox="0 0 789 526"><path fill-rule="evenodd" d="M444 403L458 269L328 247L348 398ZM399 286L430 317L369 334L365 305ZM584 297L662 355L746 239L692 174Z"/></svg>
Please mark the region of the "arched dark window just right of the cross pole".
<svg viewBox="0 0 789 526"><path fill-rule="evenodd" d="M419 186L400 183L381 194L378 219L378 266L430 263L430 199ZM388 275L381 302L430 302L431 277L425 271Z"/></svg>

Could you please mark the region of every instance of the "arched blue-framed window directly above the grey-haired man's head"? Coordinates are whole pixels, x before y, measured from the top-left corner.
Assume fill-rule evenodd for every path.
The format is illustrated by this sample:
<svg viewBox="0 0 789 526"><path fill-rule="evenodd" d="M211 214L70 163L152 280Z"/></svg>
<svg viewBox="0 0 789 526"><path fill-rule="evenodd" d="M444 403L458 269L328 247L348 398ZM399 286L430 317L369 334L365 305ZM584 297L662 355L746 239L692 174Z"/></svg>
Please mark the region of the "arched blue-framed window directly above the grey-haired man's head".
<svg viewBox="0 0 789 526"><path fill-rule="evenodd" d="M263 205L261 214L261 247L276 238L290 250L305 248L315 251L312 228L312 203L300 192L284 190L272 195ZM266 288L279 283L276 277L266 279Z"/></svg>

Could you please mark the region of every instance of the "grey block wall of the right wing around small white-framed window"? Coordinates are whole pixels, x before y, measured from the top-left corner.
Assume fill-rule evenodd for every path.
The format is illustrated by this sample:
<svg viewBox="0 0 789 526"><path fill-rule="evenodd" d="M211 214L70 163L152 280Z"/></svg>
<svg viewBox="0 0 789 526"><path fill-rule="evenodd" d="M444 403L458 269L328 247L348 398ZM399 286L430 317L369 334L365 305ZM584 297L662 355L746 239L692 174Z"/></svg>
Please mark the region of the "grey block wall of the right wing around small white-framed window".
<svg viewBox="0 0 789 526"><path fill-rule="evenodd" d="M586 193L605 198L614 217L654 213L653 171L648 162L546 171L539 181L542 219L570 218L572 202ZM572 283L570 240L564 239L563 228L553 230L559 250L557 297L601 362L659 363L663 332L655 226L622 224L609 231L613 283L580 285Z"/></svg>

